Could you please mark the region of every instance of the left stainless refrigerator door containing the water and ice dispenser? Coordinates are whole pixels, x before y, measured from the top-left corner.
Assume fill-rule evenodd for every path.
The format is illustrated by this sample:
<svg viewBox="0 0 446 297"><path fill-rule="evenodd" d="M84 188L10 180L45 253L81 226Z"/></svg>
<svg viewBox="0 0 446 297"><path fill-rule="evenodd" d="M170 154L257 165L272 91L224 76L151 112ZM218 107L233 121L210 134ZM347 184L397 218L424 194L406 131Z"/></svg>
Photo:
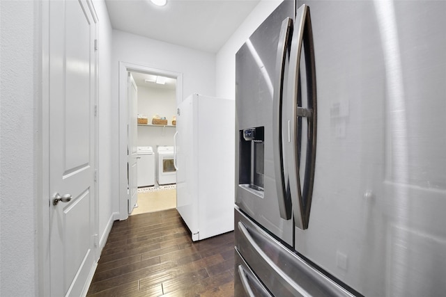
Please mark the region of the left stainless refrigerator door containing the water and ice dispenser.
<svg viewBox="0 0 446 297"><path fill-rule="evenodd" d="M289 42L282 40L291 33L281 33L282 23L286 21L285 29L291 30L288 24L293 23L294 9L294 1L281 3L236 54L236 204L289 245L293 245L291 203L283 195L277 197L276 178L281 170L276 172L280 164L274 158L273 97L277 88L286 88L279 80L284 80L281 74L288 67L289 49L278 47ZM279 75L278 55L284 56L285 67ZM249 140L249 131L261 137Z"/></svg>

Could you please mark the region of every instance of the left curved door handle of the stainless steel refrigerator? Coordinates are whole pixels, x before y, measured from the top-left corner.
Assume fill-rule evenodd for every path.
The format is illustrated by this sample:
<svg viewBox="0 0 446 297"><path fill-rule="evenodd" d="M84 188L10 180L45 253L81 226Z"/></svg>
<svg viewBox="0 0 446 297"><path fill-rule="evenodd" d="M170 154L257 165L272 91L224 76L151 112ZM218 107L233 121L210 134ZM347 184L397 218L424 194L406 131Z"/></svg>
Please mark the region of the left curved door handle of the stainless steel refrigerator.
<svg viewBox="0 0 446 297"><path fill-rule="evenodd" d="M285 220L291 219L291 197L286 191L286 166L284 164L284 145L282 130L282 99L284 95L284 72L286 64L286 53L289 51L290 38L293 32L293 20L289 17L284 19L280 29L279 44L277 45L275 88L272 107L272 129L274 133L273 154L275 161L275 181L277 188L277 200L279 202L279 213Z"/></svg>

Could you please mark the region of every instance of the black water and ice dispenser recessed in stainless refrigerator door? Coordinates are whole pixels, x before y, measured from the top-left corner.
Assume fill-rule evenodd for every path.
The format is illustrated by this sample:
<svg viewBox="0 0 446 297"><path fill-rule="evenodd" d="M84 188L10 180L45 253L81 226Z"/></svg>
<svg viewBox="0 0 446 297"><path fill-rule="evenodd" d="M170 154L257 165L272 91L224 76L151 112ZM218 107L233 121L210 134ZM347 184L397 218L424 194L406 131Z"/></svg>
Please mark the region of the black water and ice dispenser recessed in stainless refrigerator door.
<svg viewBox="0 0 446 297"><path fill-rule="evenodd" d="M263 197L264 127L240 130L239 185Z"/></svg>

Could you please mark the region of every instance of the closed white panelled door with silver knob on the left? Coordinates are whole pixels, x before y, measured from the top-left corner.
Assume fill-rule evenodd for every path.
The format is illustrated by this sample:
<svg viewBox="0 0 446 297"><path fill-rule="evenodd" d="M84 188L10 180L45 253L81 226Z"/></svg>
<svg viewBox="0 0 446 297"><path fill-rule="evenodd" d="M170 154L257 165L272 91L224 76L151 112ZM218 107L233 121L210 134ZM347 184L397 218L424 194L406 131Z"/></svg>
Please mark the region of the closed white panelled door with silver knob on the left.
<svg viewBox="0 0 446 297"><path fill-rule="evenodd" d="M51 296L81 296L95 261L93 11L87 0L49 1Z"/></svg>

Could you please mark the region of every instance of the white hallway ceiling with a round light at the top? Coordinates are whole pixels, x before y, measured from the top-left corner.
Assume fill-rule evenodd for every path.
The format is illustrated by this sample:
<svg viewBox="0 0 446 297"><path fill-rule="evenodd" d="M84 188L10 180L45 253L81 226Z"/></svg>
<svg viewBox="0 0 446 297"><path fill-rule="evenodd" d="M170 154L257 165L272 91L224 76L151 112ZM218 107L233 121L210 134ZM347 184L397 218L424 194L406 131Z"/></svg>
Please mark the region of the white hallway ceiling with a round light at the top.
<svg viewBox="0 0 446 297"><path fill-rule="evenodd" d="M216 53L260 0L105 0L114 29Z"/></svg>

